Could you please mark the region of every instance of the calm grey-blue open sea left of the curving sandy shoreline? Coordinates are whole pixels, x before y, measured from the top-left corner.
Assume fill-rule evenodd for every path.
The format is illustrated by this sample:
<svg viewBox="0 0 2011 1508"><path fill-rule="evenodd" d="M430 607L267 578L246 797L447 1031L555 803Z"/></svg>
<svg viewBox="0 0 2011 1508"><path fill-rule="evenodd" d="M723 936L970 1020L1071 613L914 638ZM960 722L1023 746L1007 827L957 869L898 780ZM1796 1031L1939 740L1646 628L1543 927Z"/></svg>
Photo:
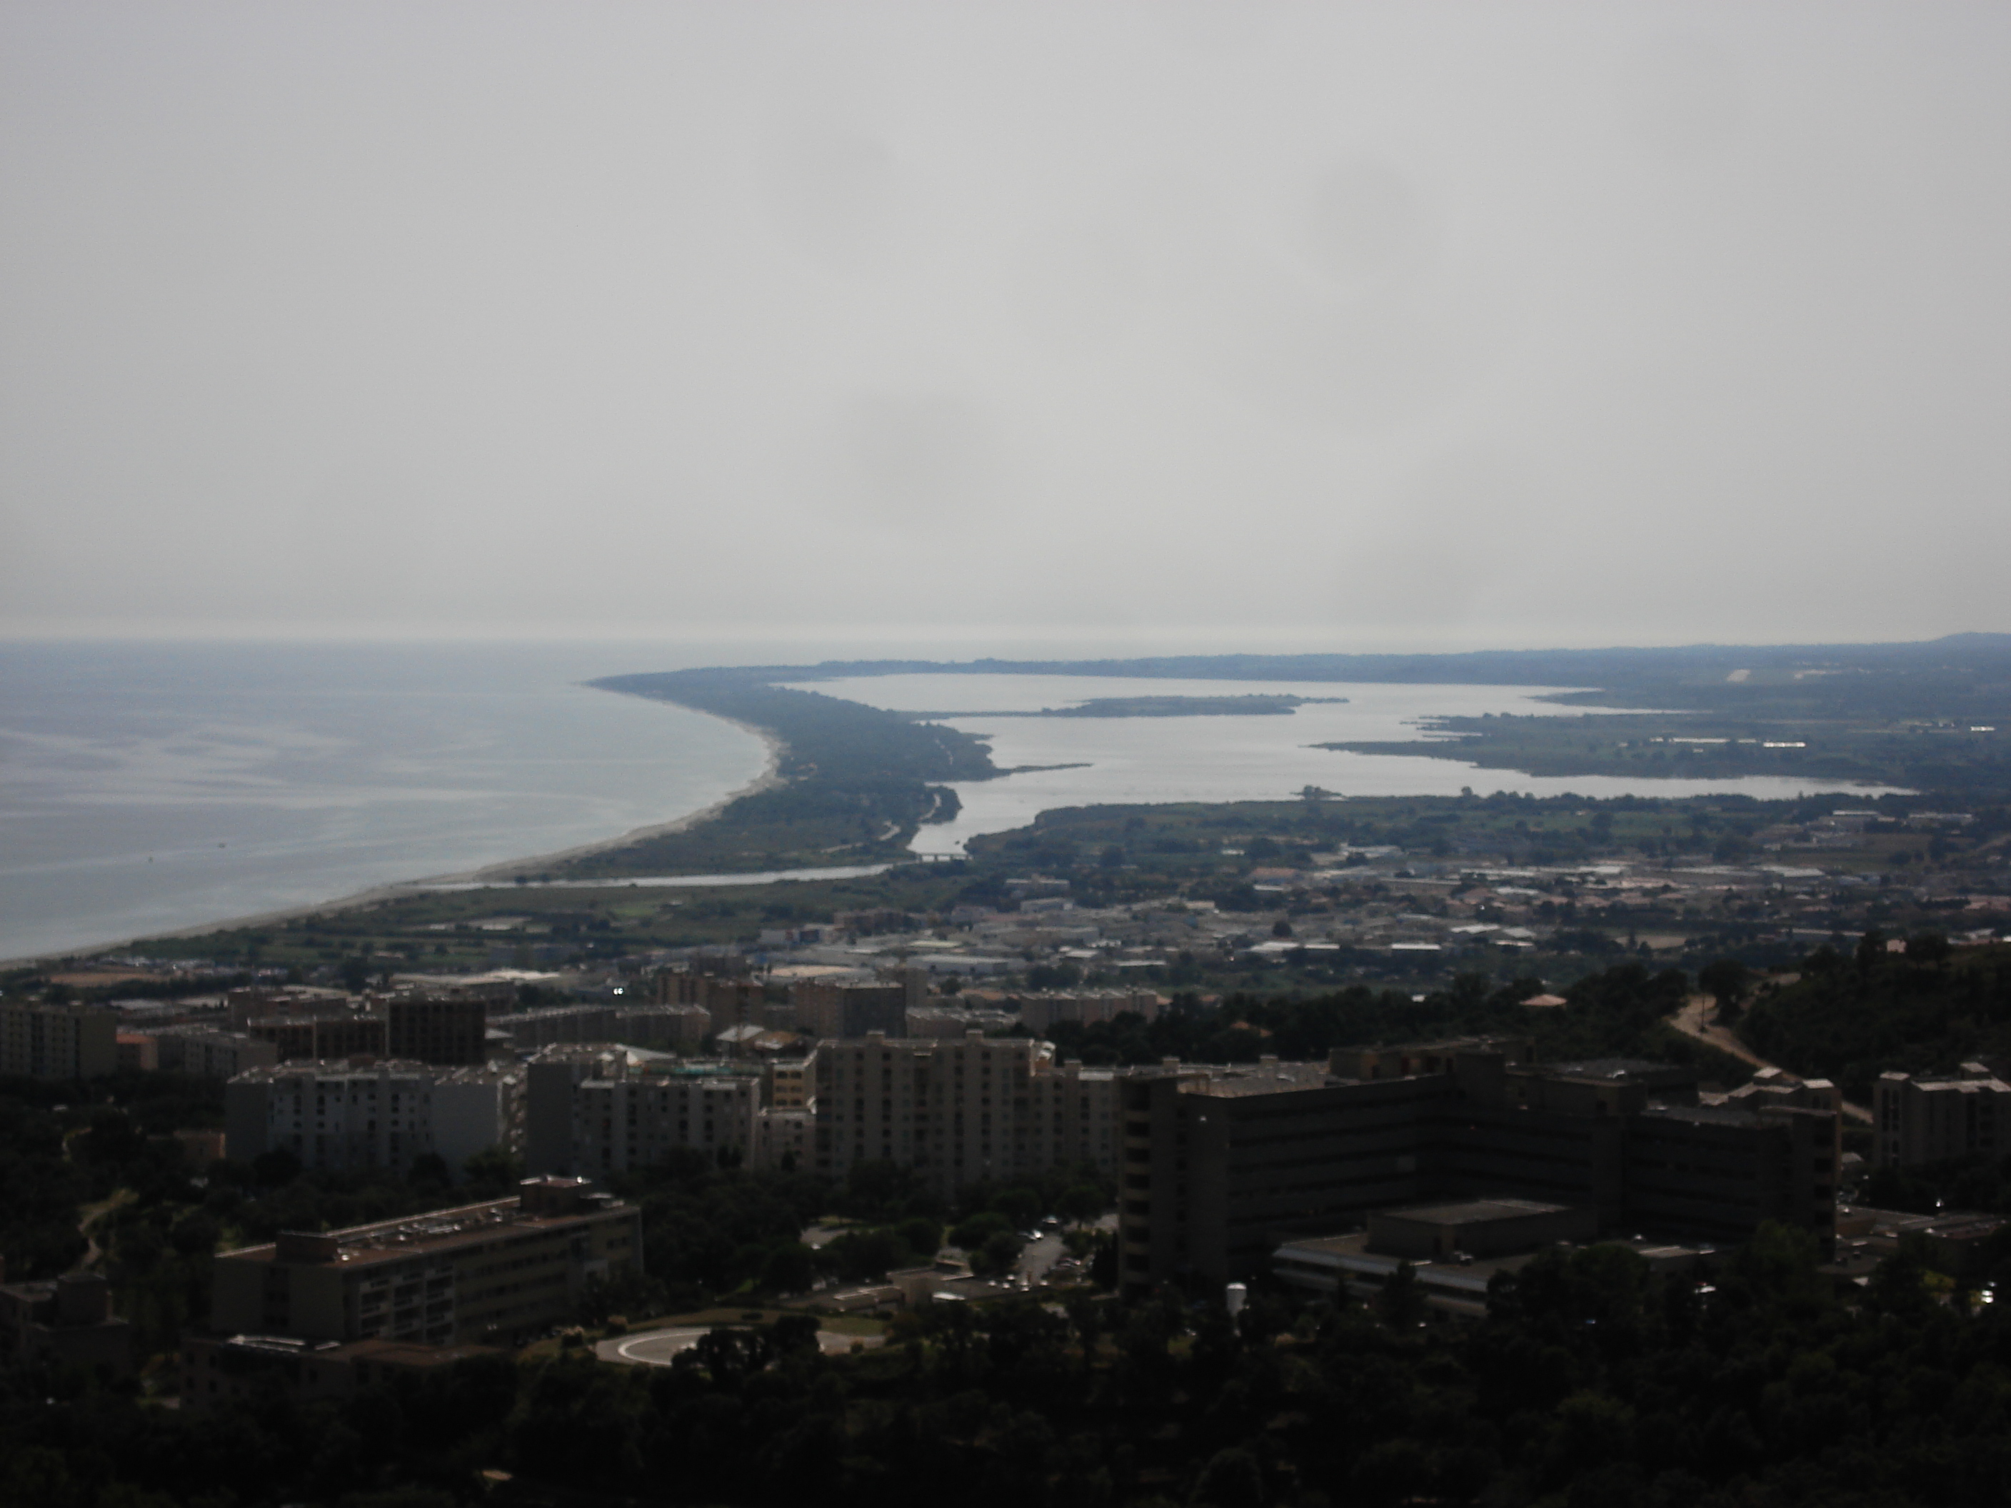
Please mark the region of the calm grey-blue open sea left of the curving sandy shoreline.
<svg viewBox="0 0 2011 1508"><path fill-rule="evenodd" d="M0 959L555 853L708 806L752 734L579 682L644 645L0 645Z"/></svg>

